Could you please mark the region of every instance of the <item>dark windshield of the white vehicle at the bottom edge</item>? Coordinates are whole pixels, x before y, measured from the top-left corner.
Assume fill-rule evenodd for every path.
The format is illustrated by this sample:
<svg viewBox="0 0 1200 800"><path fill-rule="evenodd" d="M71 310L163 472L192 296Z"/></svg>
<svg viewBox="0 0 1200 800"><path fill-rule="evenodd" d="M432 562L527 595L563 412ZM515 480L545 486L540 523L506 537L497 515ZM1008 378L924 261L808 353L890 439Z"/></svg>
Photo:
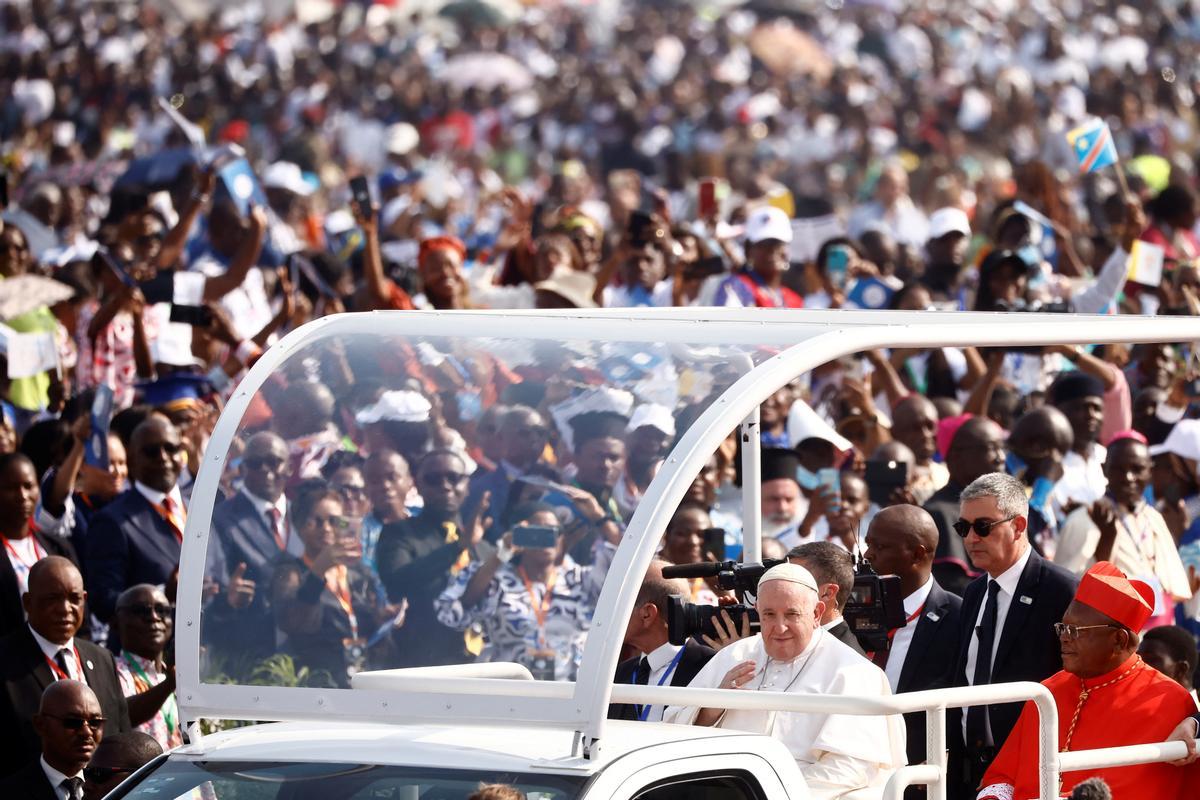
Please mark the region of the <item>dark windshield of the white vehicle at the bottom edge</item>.
<svg viewBox="0 0 1200 800"><path fill-rule="evenodd" d="M528 800L570 800L584 778L529 772L170 759L109 795L126 800L466 800L482 784L514 787Z"/></svg>

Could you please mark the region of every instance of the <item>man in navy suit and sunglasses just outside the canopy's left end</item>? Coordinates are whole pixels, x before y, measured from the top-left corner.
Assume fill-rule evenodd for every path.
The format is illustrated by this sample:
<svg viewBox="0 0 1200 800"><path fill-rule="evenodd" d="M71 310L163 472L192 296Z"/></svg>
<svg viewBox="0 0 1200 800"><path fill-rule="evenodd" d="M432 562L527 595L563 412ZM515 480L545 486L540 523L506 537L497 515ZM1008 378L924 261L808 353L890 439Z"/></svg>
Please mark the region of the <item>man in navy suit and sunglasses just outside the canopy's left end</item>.
<svg viewBox="0 0 1200 800"><path fill-rule="evenodd" d="M92 613L108 622L116 597L138 583L162 585L179 566L184 537L179 474L187 463L179 431L154 414L133 431L133 486L97 513L88 530L88 589Z"/></svg>

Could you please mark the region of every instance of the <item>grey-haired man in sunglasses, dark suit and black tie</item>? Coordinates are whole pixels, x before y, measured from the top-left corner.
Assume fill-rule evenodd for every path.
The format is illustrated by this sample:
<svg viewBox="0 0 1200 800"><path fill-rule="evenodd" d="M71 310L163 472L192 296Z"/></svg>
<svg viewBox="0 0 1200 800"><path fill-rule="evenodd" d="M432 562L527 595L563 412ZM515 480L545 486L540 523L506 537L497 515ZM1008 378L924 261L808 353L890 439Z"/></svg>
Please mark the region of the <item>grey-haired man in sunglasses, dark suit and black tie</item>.
<svg viewBox="0 0 1200 800"><path fill-rule="evenodd" d="M962 595L956 685L1043 681L1062 669L1054 626L1062 621L1079 579L1030 547L1030 504L1025 487L1012 475L977 477L962 489L960 503L954 533L985 575ZM949 776L952 787L959 783L952 798L974 796L1020 712L1020 703L952 712Z"/></svg>

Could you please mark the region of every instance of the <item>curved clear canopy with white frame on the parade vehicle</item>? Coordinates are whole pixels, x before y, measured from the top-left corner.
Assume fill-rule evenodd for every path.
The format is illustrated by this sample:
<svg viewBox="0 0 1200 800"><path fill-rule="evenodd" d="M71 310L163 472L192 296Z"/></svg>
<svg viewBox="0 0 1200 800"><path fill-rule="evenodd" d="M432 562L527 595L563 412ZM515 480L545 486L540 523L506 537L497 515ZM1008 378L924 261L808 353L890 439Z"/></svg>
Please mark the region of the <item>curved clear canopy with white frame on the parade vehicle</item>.
<svg viewBox="0 0 1200 800"><path fill-rule="evenodd" d="M599 736L625 622L667 522L722 441L781 386L871 348L1193 339L1200 319L1072 314L676 308L316 320L250 371L205 451L180 573L180 708L193 721L460 720ZM542 419L502 417L499 405ZM588 503L581 487L619 469L607 445L640 446L626 429L668 447L666 459L640 503L619 486L624 509ZM365 467L328 462L343 450L368 456ZM410 464L419 493L389 451ZM503 463L512 452L541 465ZM323 464L341 492L305 480ZM749 475L743 491L756 509ZM253 499L280 481L288 499L271 535L282 553L264 539L270 504ZM376 509L409 519L366 516L364 483L377 487ZM482 536L467 549L475 517ZM746 560L756 560L757 513L744 524ZM493 560L521 528L524 547ZM553 576L554 600L530 614L538 576ZM230 591L244 581L254 584L250 602ZM426 669L444 664L463 667ZM354 678L397 668L386 680Z"/></svg>

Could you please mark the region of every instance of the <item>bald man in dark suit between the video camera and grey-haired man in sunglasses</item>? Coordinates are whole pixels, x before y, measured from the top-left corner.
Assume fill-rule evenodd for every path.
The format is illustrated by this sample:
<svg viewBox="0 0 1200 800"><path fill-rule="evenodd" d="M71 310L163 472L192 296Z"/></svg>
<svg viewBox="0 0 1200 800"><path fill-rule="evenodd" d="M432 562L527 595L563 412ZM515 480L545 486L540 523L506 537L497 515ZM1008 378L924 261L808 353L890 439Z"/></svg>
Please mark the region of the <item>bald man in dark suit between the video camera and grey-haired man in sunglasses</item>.
<svg viewBox="0 0 1200 800"><path fill-rule="evenodd" d="M892 649L872 661L887 673L892 691L919 692L952 684L961 642L962 599L934 579L937 525L914 505L888 506L866 530L866 560L880 575L900 577L905 626L892 636ZM925 715L905 715L908 763L925 760Z"/></svg>

